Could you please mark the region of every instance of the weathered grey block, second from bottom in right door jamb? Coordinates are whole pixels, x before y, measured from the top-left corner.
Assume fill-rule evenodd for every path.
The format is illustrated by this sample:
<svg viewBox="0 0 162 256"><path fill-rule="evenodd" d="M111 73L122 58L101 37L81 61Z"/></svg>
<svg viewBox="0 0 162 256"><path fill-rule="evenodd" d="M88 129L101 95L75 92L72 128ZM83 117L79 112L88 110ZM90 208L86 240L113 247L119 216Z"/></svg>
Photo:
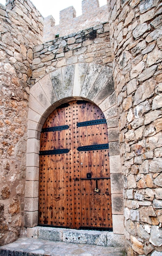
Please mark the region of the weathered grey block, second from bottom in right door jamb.
<svg viewBox="0 0 162 256"><path fill-rule="evenodd" d="M112 194L112 214L123 214L123 194Z"/></svg>

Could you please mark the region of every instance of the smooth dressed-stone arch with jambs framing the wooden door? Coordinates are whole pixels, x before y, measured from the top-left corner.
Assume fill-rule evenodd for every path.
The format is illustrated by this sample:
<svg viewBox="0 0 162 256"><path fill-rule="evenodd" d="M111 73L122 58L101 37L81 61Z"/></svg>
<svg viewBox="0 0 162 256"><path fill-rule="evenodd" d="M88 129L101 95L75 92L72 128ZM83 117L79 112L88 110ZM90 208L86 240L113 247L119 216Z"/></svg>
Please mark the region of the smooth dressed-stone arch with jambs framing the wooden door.
<svg viewBox="0 0 162 256"><path fill-rule="evenodd" d="M44 121L60 104L86 99L103 111L109 136L113 230L123 234L123 182L119 155L116 95L112 68L94 63L61 67L30 90L26 157L25 227L38 222L39 139Z"/></svg>

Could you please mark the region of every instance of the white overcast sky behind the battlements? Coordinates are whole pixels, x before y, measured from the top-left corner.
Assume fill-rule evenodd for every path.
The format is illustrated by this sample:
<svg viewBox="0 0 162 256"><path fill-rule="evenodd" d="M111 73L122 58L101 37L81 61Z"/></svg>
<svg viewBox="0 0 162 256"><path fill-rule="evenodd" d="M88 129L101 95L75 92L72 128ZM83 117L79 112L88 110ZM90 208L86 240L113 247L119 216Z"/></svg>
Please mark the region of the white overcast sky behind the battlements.
<svg viewBox="0 0 162 256"><path fill-rule="evenodd" d="M72 6L77 12L77 16L81 15L82 0L31 0L35 7L40 11L42 16L52 15L55 19L55 25L59 24L59 11ZM46 2L46 4L45 4ZM0 0L1 4L6 4L6 0ZM107 0L99 0L100 7L107 4Z"/></svg>

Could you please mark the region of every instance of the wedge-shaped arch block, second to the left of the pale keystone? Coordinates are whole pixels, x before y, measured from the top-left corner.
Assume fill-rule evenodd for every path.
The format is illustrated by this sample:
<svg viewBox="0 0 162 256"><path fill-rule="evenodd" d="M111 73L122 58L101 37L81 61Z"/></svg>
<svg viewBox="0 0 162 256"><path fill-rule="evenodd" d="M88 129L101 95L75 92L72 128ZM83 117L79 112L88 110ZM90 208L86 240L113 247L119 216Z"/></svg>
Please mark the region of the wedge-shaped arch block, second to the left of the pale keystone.
<svg viewBox="0 0 162 256"><path fill-rule="evenodd" d="M57 100L63 99L64 92L63 92L63 81L62 81L61 68L50 73L50 79L52 81L52 85L53 85Z"/></svg>

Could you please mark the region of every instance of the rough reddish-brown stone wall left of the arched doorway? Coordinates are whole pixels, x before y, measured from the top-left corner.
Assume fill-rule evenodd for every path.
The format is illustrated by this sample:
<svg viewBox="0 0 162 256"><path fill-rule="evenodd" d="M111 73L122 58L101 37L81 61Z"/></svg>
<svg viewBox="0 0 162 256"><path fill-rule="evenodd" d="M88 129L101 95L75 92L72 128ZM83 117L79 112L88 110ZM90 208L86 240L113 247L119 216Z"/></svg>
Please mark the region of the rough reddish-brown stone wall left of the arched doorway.
<svg viewBox="0 0 162 256"><path fill-rule="evenodd" d="M0 4L0 245L17 239L24 226L28 97L42 24L29 0Z"/></svg>

